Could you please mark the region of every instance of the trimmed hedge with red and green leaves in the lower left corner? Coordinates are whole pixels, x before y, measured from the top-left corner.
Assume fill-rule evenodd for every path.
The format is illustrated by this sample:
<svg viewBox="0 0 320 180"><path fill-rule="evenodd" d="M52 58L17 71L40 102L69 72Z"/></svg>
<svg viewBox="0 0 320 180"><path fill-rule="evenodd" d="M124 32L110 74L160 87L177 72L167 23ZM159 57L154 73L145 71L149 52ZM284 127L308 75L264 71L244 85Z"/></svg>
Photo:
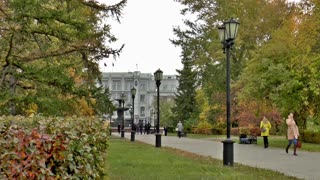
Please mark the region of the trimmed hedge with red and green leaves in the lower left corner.
<svg viewBox="0 0 320 180"><path fill-rule="evenodd" d="M98 119L34 116L0 119L0 177L97 179L108 126Z"/></svg>

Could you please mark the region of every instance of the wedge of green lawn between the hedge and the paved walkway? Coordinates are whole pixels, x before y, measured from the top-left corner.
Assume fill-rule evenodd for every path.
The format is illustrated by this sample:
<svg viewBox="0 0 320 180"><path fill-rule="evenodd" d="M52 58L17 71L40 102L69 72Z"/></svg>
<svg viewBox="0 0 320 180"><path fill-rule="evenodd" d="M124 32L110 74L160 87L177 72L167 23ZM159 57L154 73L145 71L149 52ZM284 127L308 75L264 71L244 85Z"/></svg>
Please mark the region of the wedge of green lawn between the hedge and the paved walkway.
<svg viewBox="0 0 320 180"><path fill-rule="evenodd" d="M296 179L282 173L221 160L172 148L155 148L127 139L110 139L106 177L110 180L206 180L206 179Z"/></svg>

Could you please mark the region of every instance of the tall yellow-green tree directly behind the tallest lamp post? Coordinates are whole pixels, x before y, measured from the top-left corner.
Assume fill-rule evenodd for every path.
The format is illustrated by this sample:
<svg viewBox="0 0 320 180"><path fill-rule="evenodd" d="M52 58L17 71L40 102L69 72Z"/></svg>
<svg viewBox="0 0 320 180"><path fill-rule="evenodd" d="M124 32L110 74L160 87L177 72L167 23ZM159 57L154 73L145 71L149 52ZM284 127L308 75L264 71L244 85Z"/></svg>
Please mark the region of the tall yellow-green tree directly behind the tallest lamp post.
<svg viewBox="0 0 320 180"><path fill-rule="evenodd" d="M243 104L236 98L238 90L241 89L237 84L240 75L256 51L273 39L273 33L283 26L295 6L287 4L285 0L179 0L178 2L186 5L182 14L196 15L195 21L186 21L187 30L176 29L183 35L178 36L180 41L183 39L183 42L188 42L182 46L192 52L188 57L192 59L194 70L198 73L200 87L207 97L205 99L212 107L210 112L205 112L212 123L224 119L226 110L225 55L219 43L217 27L231 17L238 18L241 23L238 38L231 51L232 118L236 120L234 118L239 117L236 116L239 113L237 105ZM269 105L272 106L272 102Z"/></svg>

